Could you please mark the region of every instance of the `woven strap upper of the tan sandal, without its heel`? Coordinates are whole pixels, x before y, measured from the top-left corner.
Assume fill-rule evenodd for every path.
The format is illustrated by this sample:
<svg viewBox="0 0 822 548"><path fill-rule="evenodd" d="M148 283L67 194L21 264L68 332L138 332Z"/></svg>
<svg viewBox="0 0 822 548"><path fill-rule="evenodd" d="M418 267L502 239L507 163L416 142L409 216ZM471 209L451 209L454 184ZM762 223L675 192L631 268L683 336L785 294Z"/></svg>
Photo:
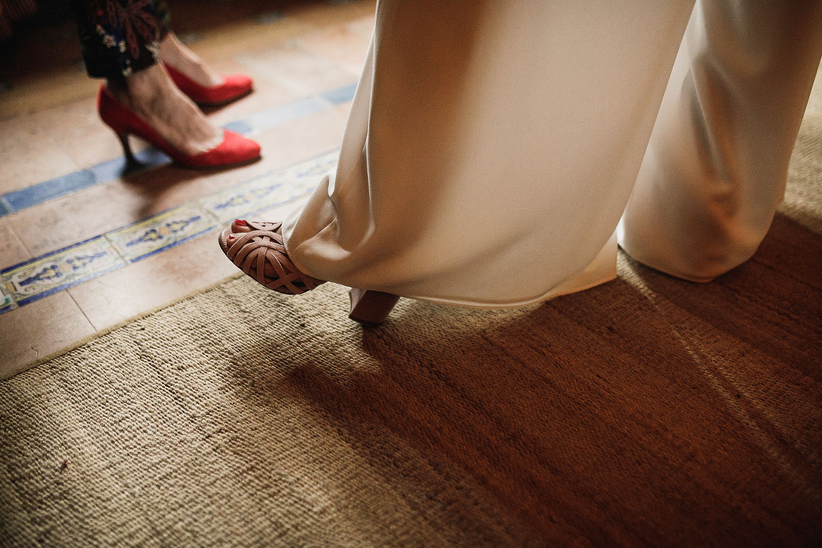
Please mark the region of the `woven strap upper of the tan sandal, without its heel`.
<svg viewBox="0 0 822 548"><path fill-rule="evenodd" d="M236 240L225 253L244 273L266 288L290 295L299 295L325 283L302 274L291 262L279 234L282 223L246 222L252 231L235 233ZM275 277L266 275L266 265L275 271Z"/></svg>

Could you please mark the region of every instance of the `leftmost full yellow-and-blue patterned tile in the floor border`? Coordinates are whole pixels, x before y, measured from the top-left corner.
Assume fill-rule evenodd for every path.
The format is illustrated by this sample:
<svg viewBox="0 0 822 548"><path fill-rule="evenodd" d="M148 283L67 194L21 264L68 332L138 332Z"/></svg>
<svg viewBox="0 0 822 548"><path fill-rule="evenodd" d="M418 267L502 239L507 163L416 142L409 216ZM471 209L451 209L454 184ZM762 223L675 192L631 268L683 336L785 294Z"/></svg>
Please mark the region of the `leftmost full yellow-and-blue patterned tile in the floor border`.
<svg viewBox="0 0 822 548"><path fill-rule="evenodd" d="M111 244L104 237L95 237L0 274L4 292L22 306L123 265L125 262Z"/></svg>

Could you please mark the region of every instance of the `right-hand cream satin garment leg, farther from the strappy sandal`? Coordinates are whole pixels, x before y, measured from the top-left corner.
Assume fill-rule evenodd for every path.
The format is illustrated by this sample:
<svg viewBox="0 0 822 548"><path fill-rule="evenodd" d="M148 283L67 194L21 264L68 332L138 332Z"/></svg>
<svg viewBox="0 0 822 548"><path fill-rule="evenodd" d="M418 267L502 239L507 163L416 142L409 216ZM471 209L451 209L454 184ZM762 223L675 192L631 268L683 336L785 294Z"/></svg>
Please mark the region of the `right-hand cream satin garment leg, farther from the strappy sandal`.
<svg viewBox="0 0 822 548"><path fill-rule="evenodd" d="M697 2L620 224L631 256L706 282L754 254L820 54L822 2Z"/></svg>

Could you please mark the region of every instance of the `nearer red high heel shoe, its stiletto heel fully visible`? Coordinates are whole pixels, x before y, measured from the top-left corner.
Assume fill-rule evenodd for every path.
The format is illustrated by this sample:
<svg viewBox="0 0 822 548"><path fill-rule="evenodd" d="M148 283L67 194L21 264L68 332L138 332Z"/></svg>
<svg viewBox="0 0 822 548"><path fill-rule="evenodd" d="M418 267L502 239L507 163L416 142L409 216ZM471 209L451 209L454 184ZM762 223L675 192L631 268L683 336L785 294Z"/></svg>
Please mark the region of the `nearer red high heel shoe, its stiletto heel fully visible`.
<svg viewBox="0 0 822 548"><path fill-rule="evenodd" d="M189 168L226 168L251 163L260 158L260 145L228 130L223 130L223 142L215 148L193 156L182 154L171 148L145 120L114 99L105 85L100 86L97 95L97 110L100 119L120 138L122 150L129 161L134 161L132 147L128 144L129 135L147 140L165 154L169 154L175 162Z"/></svg>

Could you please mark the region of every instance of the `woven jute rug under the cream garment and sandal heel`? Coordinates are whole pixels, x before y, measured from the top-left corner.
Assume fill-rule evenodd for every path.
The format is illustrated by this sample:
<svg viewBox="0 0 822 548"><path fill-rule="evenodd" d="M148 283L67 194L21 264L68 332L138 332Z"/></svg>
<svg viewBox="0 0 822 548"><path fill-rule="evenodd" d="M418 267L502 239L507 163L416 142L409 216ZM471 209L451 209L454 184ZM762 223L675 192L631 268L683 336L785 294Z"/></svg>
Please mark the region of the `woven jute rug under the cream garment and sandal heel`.
<svg viewBox="0 0 822 548"><path fill-rule="evenodd" d="M0 382L0 545L820 546L820 103L713 283L364 330L242 278Z"/></svg>

